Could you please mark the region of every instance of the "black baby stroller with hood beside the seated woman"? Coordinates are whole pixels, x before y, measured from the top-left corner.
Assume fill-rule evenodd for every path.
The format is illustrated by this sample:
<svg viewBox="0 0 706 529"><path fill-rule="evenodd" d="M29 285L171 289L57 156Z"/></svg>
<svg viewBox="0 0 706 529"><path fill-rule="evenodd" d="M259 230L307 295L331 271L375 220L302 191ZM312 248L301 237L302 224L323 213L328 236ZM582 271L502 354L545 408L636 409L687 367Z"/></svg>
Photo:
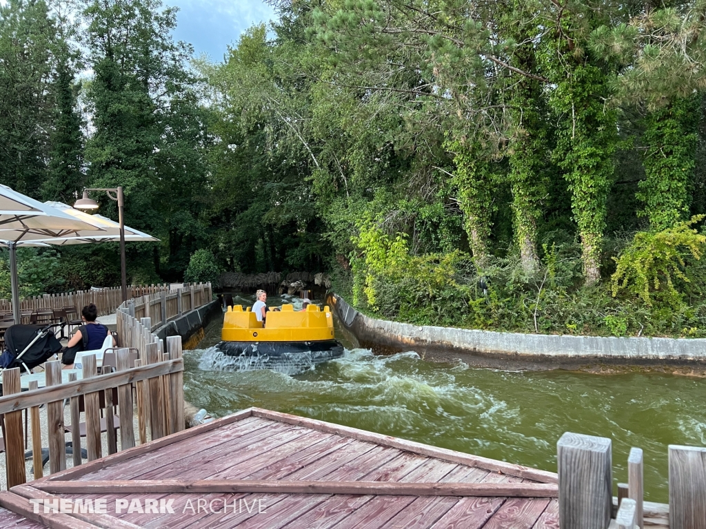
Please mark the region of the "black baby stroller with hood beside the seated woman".
<svg viewBox="0 0 706 529"><path fill-rule="evenodd" d="M43 364L61 351L61 343L52 332L54 324L13 325L5 332L5 351L0 355L2 370L19 367L30 372L32 367Z"/></svg>

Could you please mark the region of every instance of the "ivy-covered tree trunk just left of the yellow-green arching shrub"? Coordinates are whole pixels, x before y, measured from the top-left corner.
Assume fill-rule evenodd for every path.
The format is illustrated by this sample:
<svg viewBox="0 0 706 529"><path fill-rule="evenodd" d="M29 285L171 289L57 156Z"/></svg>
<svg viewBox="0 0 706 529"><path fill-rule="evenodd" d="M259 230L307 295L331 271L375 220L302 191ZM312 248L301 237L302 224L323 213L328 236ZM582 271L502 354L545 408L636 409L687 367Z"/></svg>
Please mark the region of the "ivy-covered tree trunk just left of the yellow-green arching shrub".
<svg viewBox="0 0 706 529"><path fill-rule="evenodd" d="M592 284L601 276L606 199L613 181L618 128L616 111L606 106L606 73L590 63L575 62L572 71L558 80L551 97L554 110L563 117L554 158L566 171L584 276Z"/></svg>

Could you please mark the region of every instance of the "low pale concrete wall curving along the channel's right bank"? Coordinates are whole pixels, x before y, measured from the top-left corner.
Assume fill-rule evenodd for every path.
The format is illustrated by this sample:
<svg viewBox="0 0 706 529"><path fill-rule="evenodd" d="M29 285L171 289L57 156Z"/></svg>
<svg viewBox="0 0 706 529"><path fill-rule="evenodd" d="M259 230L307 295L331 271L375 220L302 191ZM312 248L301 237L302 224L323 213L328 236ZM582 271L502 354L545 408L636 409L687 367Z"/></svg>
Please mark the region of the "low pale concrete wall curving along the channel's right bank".
<svg viewBox="0 0 706 529"><path fill-rule="evenodd" d="M327 303L363 347L385 346L398 350L419 348L516 360L638 360L705 361L706 339L614 338L521 334L476 329L432 327L388 322L361 314L343 298L330 293Z"/></svg>

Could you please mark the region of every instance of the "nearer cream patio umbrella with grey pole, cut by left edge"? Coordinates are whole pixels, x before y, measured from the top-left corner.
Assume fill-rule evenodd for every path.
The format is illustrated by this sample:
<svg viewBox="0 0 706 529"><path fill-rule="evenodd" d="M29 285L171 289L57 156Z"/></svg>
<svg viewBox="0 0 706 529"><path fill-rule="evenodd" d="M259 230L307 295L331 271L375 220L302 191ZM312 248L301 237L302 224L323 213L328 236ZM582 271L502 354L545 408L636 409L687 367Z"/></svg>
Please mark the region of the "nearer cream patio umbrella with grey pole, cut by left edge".
<svg viewBox="0 0 706 529"><path fill-rule="evenodd" d="M4 241L10 250L12 312L15 322L20 322L17 243L40 238L67 237L83 231L101 232L104 229L42 204L8 186L0 185L0 241Z"/></svg>

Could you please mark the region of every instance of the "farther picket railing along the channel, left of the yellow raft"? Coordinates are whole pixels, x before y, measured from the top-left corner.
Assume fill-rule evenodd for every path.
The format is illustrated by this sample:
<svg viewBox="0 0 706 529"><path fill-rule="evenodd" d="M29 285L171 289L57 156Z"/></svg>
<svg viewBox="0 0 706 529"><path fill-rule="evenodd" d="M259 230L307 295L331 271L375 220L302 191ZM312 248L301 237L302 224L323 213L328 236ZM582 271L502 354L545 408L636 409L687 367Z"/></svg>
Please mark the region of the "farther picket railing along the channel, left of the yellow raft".
<svg viewBox="0 0 706 529"><path fill-rule="evenodd" d="M116 310L118 335L123 334L121 327L126 324L125 315L138 321L150 320L148 328L152 332L186 312L203 307L211 300L213 300L213 288L210 283L184 286L172 292L162 290L128 300ZM129 326L129 324L126 325Z"/></svg>

